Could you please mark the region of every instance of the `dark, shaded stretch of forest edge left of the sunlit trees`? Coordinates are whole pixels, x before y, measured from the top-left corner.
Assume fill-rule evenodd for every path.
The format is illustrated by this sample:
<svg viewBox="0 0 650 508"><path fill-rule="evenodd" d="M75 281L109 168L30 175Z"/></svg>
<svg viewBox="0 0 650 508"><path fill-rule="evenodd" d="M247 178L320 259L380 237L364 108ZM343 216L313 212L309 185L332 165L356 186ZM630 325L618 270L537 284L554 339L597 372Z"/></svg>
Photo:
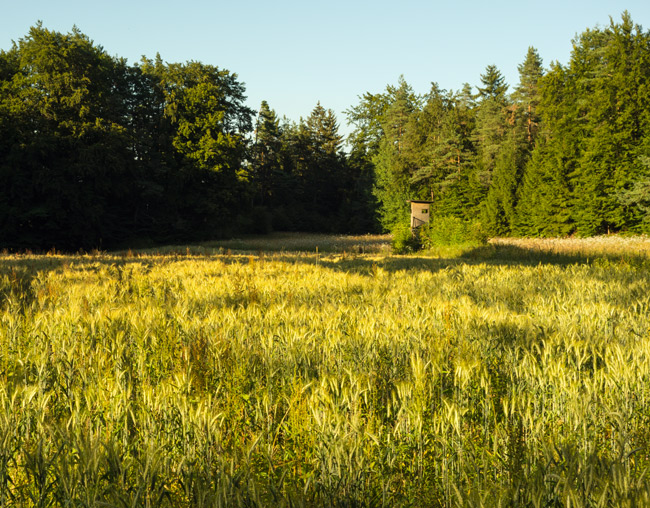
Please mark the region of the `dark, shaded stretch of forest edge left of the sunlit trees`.
<svg viewBox="0 0 650 508"><path fill-rule="evenodd" d="M343 151L334 113L292 123L245 100L228 70L129 65L37 24L0 52L0 246L371 230L371 170Z"/></svg>

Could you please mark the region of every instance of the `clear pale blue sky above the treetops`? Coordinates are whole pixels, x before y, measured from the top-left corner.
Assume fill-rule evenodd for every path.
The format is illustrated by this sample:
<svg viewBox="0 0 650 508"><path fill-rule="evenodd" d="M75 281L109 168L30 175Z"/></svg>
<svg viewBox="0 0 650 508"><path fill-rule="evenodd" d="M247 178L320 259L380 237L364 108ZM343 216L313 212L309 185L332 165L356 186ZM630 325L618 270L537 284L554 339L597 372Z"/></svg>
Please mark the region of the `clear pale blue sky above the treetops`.
<svg viewBox="0 0 650 508"><path fill-rule="evenodd" d="M400 75L419 93L432 81L458 90L494 64L512 87L529 46L545 66L566 63L576 34L626 9L648 29L649 0L1 0L0 49L38 20L61 32L76 25L130 63L160 53L236 72L254 109L267 100L297 121L320 101L345 133L358 96Z"/></svg>

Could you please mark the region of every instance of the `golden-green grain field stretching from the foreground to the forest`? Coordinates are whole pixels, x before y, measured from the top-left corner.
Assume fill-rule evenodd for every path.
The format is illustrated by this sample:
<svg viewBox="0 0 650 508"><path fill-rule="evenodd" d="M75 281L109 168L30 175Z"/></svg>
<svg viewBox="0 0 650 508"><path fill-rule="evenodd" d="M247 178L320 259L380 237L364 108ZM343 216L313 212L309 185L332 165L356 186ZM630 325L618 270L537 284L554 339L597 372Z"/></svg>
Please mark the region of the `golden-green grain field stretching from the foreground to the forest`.
<svg viewBox="0 0 650 508"><path fill-rule="evenodd" d="M650 505L650 240L0 256L0 506Z"/></svg>

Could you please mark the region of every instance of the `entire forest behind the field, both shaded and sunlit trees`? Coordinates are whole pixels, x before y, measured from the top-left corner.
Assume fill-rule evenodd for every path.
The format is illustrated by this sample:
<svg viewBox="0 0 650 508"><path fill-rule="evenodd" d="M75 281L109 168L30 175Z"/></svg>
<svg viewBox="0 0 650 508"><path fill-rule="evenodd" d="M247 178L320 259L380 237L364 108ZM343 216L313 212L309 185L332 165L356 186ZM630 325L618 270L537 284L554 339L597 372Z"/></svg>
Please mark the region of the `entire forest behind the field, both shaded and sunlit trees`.
<svg viewBox="0 0 650 508"><path fill-rule="evenodd" d="M339 133L246 105L237 74L129 65L41 24L0 52L0 246L111 248L272 229L408 224L408 199L489 235L650 231L650 32L584 31L567 64L529 48L512 91L404 78L365 93ZM344 149L347 148L347 149Z"/></svg>

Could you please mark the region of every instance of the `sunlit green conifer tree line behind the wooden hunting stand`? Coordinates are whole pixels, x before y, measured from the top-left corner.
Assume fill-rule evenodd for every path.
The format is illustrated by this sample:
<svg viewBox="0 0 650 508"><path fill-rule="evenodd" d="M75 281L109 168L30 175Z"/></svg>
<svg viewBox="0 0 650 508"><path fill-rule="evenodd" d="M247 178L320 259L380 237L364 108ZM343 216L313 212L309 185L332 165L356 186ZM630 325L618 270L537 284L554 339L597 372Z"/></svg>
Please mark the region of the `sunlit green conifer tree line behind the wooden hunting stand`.
<svg viewBox="0 0 650 508"><path fill-rule="evenodd" d="M487 66L478 93L401 78L347 112L371 161L382 225L408 223L408 199L489 235L650 231L650 33L629 13L573 41L548 70L529 48L512 93Z"/></svg>

